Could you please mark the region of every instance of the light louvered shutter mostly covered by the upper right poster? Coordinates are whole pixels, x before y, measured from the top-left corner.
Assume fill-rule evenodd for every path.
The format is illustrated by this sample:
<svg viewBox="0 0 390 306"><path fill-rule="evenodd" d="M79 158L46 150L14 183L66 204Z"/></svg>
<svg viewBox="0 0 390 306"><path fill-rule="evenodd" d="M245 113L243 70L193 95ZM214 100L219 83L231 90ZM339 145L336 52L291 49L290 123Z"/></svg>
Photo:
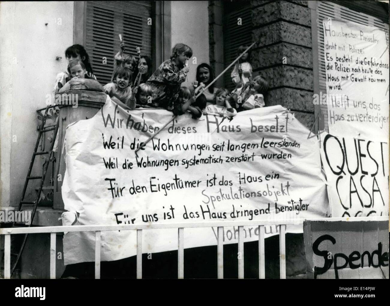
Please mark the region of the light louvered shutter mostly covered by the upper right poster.
<svg viewBox="0 0 390 306"><path fill-rule="evenodd" d="M326 69L324 58L324 30L322 21L328 17L353 21L370 27L377 27L386 31L388 41L389 25L381 21L379 18L356 12L344 6L328 1L317 1L317 37L318 37L318 61L319 61L319 91L326 93ZM320 105L321 112L324 115L324 129L329 132L328 127L328 105Z"/></svg>

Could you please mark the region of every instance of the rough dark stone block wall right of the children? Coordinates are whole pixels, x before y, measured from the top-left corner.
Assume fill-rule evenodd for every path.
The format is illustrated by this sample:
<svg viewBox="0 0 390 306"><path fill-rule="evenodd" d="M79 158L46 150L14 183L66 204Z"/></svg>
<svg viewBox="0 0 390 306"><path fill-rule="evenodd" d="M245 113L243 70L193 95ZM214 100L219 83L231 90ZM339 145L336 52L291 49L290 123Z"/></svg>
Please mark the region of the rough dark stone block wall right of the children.
<svg viewBox="0 0 390 306"><path fill-rule="evenodd" d="M252 67L270 86L266 103L295 112L309 129L314 122L310 9L307 1L251 1Z"/></svg>

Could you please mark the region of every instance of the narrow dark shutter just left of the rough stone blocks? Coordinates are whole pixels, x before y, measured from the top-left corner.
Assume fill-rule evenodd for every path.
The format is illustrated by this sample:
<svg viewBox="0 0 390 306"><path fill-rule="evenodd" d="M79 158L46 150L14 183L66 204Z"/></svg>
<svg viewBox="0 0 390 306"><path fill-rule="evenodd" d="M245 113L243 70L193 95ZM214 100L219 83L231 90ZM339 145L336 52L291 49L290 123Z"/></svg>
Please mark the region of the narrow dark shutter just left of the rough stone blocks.
<svg viewBox="0 0 390 306"><path fill-rule="evenodd" d="M229 12L226 6L231 5L226 2L223 16L223 50L225 68L231 64L237 57L238 47L241 45L250 45L252 43L252 11L250 2L240 2L241 8ZM228 11L228 12L227 12ZM242 25L238 25L238 18L242 19ZM233 67L231 68L231 70ZM230 91L235 85L230 78L231 70L223 75L224 87Z"/></svg>

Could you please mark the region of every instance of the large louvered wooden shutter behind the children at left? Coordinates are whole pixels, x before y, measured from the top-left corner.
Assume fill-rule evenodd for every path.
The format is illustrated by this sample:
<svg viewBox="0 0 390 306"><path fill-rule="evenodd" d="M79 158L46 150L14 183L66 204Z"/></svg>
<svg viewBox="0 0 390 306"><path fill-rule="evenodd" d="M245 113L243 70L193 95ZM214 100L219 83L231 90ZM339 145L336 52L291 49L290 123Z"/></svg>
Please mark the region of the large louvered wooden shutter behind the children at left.
<svg viewBox="0 0 390 306"><path fill-rule="evenodd" d="M110 82L113 57L119 51L119 34L126 43L126 54L152 55L151 1L87 1L86 50L97 80ZM103 64L103 57L107 63Z"/></svg>

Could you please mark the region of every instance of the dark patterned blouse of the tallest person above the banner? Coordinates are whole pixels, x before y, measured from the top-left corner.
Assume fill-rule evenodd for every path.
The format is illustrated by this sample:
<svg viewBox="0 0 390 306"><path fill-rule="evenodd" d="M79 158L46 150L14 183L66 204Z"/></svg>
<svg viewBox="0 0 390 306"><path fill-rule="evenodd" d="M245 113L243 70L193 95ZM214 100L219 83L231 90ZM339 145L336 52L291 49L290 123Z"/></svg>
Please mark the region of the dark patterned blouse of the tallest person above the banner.
<svg viewBox="0 0 390 306"><path fill-rule="evenodd" d="M186 75L174 60L163 62L146 82L152 87L152 105L173 111L175 115L182 115L181 105L176 101Z"/></svg>

